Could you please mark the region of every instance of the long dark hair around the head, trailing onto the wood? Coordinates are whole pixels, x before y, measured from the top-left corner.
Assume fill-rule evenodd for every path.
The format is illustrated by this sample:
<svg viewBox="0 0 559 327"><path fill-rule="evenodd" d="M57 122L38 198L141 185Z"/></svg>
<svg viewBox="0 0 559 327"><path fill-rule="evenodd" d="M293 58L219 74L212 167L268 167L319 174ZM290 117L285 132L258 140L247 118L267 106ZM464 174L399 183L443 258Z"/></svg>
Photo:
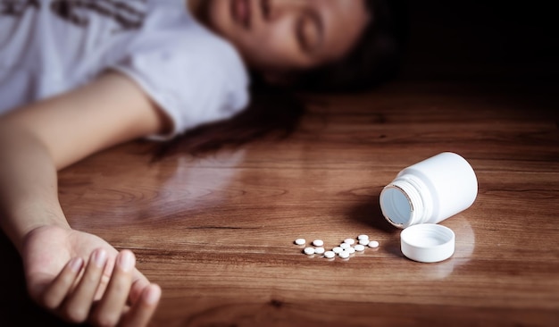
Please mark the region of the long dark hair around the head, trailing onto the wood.
<svg viewBox="0 0 559 327"><path fill-rule="evenodd" d="M272 87L253 76L251 103L242 113L188 130L159 145L156 157L184 152L197 155L265 137L285 138L296 130L305 113L305 105L294 91L361 91L394 77L407 31L405 1L364 1L371 22L343 59L298 74L288 87Z"/></svg>

